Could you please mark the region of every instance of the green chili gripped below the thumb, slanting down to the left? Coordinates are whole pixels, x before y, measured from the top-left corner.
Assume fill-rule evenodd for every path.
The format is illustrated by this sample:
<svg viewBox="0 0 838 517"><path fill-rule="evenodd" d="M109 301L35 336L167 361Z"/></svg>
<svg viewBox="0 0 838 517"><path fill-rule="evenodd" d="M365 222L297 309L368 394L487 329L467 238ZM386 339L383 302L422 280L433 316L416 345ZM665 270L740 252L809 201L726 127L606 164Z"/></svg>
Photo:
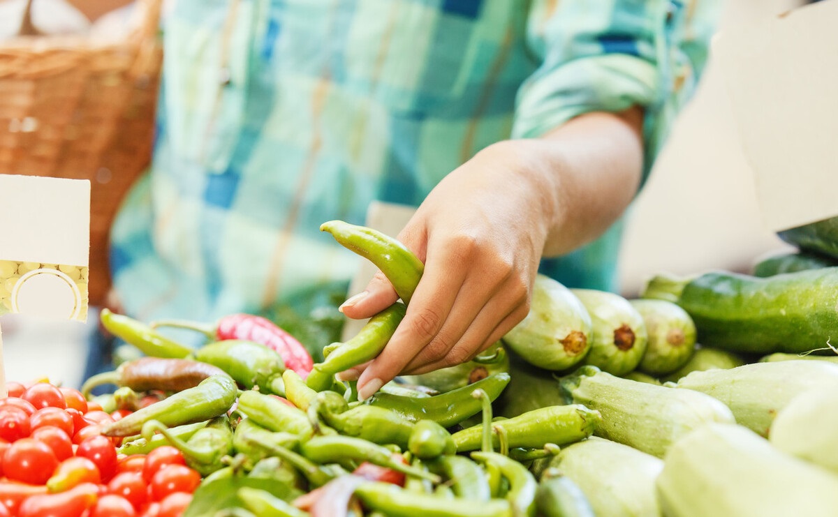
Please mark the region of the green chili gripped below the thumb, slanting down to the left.
<svg viewBox="0 0 838 517"><path fill-rule="evenodd" d="M314 364L306 378L308 387L318 392L328 390L334 374L375 359L396 332L405 310L404 304L396 302L370 318L358 334L334 349L323 362Z"/></svg>

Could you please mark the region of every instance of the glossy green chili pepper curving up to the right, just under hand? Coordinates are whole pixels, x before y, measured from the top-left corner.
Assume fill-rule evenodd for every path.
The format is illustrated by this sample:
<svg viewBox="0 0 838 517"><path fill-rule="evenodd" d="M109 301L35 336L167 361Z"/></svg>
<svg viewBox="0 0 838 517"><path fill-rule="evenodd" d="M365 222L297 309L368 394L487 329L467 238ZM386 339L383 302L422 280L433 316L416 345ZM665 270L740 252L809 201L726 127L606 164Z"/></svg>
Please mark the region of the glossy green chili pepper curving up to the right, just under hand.
<svg viewBox="0 0 838 517"><path fill-rule="evenodd" d="M391 409L409 422L433 420L442 427L452 427L480 412L481 402L471 396L475 389L482 389L489 399L494 401L509 383L510 374L499 372L468 386L433 397L402 397L378 392L370 397L367 403L370 406Z"/></svg>

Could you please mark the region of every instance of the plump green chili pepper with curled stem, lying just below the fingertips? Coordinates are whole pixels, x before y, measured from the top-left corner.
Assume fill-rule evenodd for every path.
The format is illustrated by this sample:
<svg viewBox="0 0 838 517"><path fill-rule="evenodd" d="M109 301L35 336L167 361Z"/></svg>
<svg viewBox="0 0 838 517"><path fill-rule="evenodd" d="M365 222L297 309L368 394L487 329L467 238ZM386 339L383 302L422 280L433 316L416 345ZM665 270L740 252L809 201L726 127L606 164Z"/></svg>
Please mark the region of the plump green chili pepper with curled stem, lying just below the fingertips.
<svg viewBox="0 0 838 517"><path fill-rule="evenodd" d="M395 443L406 448L413 424L384 407L349 405L338 393L320 392L309 408L310 418L323 418L339 433L372 443ZM444 430L444 429L443 429ZM453 444L453 443L452 443Z"/></svg>

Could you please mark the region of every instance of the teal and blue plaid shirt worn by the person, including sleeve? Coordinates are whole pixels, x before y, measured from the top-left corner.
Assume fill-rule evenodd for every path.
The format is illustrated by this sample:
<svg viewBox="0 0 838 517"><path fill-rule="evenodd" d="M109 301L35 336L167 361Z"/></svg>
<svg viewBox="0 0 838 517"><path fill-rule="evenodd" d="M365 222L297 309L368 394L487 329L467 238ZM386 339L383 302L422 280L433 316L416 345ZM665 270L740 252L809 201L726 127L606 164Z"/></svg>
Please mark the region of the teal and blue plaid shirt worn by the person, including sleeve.
<svg viewBox="0 0 838 517"><path fill-rule="evenodd" d="M646 172L706 61L720 0L176 0L149 173L113 228L128 314L293 304L358 266L320 223L418 205L504 139L645 109ZM617 289L622 223L545 260Z"/></svg>

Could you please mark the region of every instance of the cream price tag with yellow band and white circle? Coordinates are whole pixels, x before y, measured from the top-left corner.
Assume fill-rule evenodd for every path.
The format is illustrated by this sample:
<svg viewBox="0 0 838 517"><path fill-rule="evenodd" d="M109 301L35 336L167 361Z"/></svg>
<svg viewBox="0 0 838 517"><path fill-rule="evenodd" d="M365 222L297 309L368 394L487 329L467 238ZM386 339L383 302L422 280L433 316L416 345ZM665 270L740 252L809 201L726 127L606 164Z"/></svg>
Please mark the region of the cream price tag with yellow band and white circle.
<svg viewBox="0 0 838 517"><path fill-rule="evenodd" d="M0 315L87 320L90 213L86 180L0 175Z"/></svg>

